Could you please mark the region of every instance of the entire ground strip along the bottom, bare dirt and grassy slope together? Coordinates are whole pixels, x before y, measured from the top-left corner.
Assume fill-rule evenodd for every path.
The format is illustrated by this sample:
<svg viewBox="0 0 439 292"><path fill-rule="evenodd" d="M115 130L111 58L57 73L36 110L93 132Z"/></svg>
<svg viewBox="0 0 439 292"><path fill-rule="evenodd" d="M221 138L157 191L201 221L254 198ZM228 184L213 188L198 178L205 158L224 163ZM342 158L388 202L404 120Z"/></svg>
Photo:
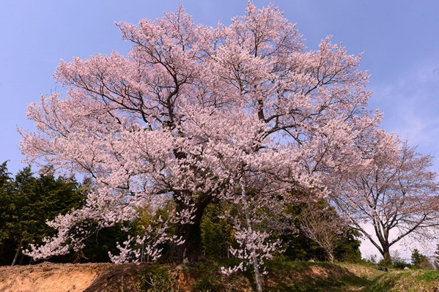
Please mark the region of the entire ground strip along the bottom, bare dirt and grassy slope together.
<svg viewBox="0 0 439 292"><path fill-rule="evenodd" d="M250 272L226 277L218 267L217 263L0 267L0 292L148 291L151 284L155 291L252 291ZM267 270L264 291L439 291L439 271L386 273L364 265L304 262L272 262Z"/></svg>

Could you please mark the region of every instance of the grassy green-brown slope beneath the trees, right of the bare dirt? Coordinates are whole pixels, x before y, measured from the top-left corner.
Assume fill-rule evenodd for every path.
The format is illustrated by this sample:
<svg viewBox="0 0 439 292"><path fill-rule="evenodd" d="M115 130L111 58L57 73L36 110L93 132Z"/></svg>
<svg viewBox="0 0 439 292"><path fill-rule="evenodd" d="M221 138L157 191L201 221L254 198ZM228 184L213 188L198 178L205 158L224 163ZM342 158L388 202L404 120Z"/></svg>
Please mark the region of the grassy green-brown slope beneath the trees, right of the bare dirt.
<svg viewBox="0 0 439 292"><path fill-rule="evenodd" d="M151 265L144 279L163 283L156 291L253 291L251 271L226 277L219 266L233 262L193 265ZM344 263L269 262L264 291L429 291L439 292L439 271L378 271L375 267ZM151 288L151 287L150 287ZM435 290L436 289L436 290ZM148 290L144 285L139 291Z"/></svg>

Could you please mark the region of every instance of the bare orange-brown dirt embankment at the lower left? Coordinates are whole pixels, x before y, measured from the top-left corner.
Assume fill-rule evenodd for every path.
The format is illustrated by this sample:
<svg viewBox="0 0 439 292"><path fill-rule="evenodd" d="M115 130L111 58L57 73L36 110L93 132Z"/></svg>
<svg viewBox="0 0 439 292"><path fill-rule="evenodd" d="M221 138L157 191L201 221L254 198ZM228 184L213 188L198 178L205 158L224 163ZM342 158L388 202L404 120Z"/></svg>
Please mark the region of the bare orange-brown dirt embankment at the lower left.
<svg viewBox="0 0 439 292"><path fill-rule="evenodd" d="M0 267L0 292L136 291L141 265L110 263Z"/></svg>

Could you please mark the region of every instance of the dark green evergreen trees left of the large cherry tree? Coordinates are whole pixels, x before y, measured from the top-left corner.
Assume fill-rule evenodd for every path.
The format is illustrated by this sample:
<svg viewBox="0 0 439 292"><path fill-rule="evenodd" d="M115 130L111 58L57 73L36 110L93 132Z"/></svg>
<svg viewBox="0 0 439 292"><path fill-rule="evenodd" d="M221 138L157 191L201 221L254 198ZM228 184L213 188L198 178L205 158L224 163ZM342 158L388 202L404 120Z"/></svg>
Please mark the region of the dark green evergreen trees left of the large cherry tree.
<svg viewBox="0 0 439 292"><path fill-rule="evenodd" d="M29 263L23 250L54 234L47 220L80 207L85 194L74 178L36 177L29 167L12 179L3 163L0 177L0 264Z"/></svg>

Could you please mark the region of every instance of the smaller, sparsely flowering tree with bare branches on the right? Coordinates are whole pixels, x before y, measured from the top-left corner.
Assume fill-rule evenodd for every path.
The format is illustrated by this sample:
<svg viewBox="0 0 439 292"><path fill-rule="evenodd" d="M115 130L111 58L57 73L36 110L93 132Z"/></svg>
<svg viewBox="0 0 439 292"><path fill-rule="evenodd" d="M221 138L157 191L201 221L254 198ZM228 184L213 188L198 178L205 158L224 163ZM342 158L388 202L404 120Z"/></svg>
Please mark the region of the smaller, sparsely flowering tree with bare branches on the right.
<svg viewBox="0 0 439 292"><path fill-rule="evenodd" d="M405 237L432 239L439 226L439 184L431 155L390 134L370 136L368 165L334 184L333 202L391 261L390 247ZM371 224L372 233L366 227Z"/></svg>

